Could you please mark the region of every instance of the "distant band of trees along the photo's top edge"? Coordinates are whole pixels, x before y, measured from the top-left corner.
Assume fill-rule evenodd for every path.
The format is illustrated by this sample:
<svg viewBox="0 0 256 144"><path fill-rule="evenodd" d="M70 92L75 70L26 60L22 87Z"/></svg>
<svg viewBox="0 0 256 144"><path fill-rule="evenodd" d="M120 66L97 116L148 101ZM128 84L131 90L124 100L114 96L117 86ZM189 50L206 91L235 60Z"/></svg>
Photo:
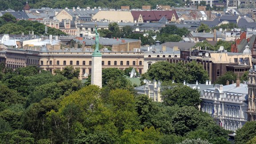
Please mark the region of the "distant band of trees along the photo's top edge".
<svg viewBox="0 0 256 144"><path fill-rule="evenodd" d="M0 0L0 10L6 10L11 8L13 10L22 10L27 0ZM115 8L120 9L123 5L129 5L131 8L141 8L142 5L151 5L152 8L156 8L156 5L184 5L182 0L28 0L30 8L72 8L80 6L80 8L89 7L101 7L101 8Z"/></svg>

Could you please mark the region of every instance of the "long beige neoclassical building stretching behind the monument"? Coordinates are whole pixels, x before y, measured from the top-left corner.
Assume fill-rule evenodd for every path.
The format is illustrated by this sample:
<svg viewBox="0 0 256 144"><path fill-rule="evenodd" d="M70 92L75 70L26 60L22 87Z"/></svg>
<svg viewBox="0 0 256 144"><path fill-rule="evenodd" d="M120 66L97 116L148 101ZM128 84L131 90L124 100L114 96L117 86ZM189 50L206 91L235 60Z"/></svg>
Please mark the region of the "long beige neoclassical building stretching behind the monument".
<svg viewBox="0 0 256 144"><path fill-rule="evenodd" d="M102 68L134 67L144 73L143 52L101 52ZM54 69L62 70L68 65L80 69L79 79L84 79L84 74L92 72L92 52L83 48L69 48L58 51L48 51L46 47L36 50L24 50L8 48L0 51L0 62L4 62L8 68L16 69L28 65L36 65L39 68L53 73Z"/></svg>

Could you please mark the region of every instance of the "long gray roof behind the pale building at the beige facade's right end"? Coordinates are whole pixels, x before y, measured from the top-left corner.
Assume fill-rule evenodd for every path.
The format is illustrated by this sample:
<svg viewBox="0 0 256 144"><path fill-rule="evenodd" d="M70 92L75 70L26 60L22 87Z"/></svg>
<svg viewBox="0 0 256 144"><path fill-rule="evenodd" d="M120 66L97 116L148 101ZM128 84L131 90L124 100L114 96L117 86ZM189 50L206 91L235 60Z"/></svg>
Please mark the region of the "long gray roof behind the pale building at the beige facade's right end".
<svg viewBox="0 0 256 144"><path fill-rule="evenodd" d="M196 43L191 43L191 42L166 42L164 44L166 47L173 48L173 47L178 47L180 50L189 50L193 46L196 45Z"/></svg>

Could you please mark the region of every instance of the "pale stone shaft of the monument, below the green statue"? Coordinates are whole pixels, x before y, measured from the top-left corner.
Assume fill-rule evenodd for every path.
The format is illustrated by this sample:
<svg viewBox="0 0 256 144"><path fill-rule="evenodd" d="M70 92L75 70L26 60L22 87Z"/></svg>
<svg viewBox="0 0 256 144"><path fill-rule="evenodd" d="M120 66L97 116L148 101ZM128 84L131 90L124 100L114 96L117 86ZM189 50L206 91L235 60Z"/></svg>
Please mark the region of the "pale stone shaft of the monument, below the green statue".
<svg viewBox="0 0 256 144"><path fill-rule="evenodd" d="M102 57L101 55L92 54L92 76L91 84L97 85L102 88Z"/></svg>

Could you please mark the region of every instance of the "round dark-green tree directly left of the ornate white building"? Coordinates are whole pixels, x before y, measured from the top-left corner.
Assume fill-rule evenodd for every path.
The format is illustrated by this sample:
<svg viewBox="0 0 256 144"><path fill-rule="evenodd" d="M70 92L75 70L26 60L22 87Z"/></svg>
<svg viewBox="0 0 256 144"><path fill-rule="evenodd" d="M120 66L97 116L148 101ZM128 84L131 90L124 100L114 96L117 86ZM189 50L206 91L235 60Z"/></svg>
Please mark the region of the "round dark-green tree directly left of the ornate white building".
<svg viewBox="0 0 256 144"><path fill-rule="evenodd" d="M192 106L197 108L200 104L200 92L183 84L172 84L162 88L162 100L165 105L180 107Z"/></svg>

